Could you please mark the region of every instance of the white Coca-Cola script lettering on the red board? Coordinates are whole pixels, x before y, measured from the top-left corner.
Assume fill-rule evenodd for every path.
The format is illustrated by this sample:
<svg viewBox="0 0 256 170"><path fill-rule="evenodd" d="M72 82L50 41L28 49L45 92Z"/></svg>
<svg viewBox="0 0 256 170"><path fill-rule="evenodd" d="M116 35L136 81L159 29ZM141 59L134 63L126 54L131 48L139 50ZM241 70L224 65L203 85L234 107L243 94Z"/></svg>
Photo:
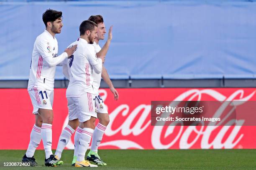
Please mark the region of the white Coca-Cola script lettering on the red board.
<svg viewBox="0 0 256 170"><path fill-rule="evenodd" d="M108 97L106 90L100 90L100 95L105 101ZM234 90L230 95L225 96L213 89L189 89L174 97L173 101L204 100L204 97L216 101L241 101L250 100L255 95L255 90L245 95L244 90ZM108 103L105 103L106 106ZM113 146L120 149L128 148L154 148L169 149L178 145L180 149L189 149L193 145L199 148L234 148L241 142L244 134L241 133L243 120L236 122L236 126L151 126L150 103L133 101L136 105L131 110L129 103L121 103L109 113L110 123L105 130L105 137L100 147ZM222 105L215 114L221 114L225 109ZM63 128L67 125L68 116ZM216 123L216 122L212 122ZM118 126L116 126L118 125ZM74 149L72 140L67 144L68 149Z"/></svg>

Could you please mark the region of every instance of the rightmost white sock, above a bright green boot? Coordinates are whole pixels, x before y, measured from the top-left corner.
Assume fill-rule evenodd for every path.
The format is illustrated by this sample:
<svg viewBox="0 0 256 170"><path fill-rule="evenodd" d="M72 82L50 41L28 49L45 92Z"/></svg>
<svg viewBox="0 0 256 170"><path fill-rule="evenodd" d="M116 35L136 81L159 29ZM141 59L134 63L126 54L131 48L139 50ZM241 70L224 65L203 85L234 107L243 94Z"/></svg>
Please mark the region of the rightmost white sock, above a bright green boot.
<svg viewBox="0 0 256 170"><path fill-rule="evenodd" d="M92 135L92 146L91 146L91 150L93 152L98 152L98 146L100 145L102 136L104 135L106 128L107 128L106 126L100 123L98 123L97 126L95 127L95 130Z"/></svg>

